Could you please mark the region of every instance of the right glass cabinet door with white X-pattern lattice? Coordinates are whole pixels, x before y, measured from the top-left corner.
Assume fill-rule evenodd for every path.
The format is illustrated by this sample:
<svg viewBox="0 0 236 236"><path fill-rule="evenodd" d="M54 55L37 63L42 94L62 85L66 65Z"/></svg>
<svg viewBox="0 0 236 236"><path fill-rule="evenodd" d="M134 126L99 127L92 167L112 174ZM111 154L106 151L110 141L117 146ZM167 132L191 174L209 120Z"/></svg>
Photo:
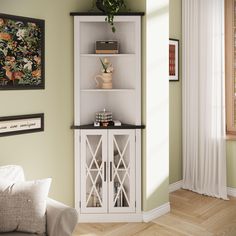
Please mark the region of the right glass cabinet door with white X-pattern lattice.
<svg viewBox="0 0 236 236"><path fill-rule="evenodd" d="M135 212L135 130L109 130L109 211Z"/></svg>

